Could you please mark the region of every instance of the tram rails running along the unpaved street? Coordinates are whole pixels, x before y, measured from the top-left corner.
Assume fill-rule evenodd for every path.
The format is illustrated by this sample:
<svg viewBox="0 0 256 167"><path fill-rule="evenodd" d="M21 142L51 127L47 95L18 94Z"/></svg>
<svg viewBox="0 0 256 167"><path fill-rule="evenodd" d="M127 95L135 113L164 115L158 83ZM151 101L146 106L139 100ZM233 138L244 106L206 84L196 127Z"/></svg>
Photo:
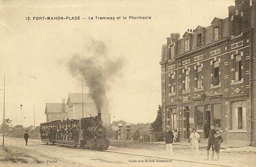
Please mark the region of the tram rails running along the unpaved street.
<svg viewBox="0 0 256 167"><path fill-rule="evenodd" d="M19 141L24 141L21 139L16 139ZM39 141L30 141L30 142L35 142L35 143L42 143ZM162 157L155 157L155 156L148 156L148 155L139 155L139 154L130 154L130 153L121 153L121 152L114 152L111 150L96 150L98 152L110 152L110 153L117 153L117 154L125 154L125 155L134 155L134 156L140 156L140 157L146 157L149 159L163 159L163 160L172 160L172 161L181 161L181 162L190 162L190 163L197 163L197 164L204 164L204 165L213 165L213 166L223 166L223 167L233 167L233 166L227 166L227 165L217 165L217 164L213 164L213 163L204 163L204 162L195 162L195 161L188 161L188 160L179 160L179 159L170 159L170 158L162 158Z"/></svg>

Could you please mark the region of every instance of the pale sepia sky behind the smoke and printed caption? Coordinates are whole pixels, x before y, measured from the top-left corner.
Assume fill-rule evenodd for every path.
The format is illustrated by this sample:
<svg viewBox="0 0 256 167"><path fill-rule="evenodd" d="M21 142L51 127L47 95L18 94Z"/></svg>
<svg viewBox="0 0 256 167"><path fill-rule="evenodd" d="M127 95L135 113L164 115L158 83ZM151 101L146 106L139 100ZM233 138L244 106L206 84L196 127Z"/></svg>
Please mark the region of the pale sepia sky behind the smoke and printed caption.
<svg viewBox="0 0 256 167"><path fill-rule="evenodd" d="M99 64L122 60L120 69L106 81L111 122L151 123L161 104L159 62L166 38L170 33L180 33L182 38L187 29L210 26L214 17L228 17L231 5L233 0L0 1L1 120L4 74L5 118L13 120L13 126L28 127L34 123L35 111L35 126L39 126L46 122L46 102L62 103L69 93L82 92L82 76L72 74L69 62L74 55L93 58L88 46L97 46L91 44L96 41L106 47L105 58L95 59ZM57 16L80 20L33 20ZM96 16L115 19L96 20ZM89 88L84 86L83 92Z"/></svg>

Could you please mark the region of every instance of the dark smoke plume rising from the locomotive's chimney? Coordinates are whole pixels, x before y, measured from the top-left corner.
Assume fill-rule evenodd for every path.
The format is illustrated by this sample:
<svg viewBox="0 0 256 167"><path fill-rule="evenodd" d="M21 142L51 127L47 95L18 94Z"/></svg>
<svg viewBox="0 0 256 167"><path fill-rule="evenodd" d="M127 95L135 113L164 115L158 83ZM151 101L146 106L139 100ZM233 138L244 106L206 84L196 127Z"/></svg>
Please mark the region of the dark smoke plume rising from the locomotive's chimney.
<svg viewBox="0 0 256 167"><path fill-rule="evenodd" d="M98 113L101 113L106 98L106 86L122 69L123 59L110 59L103 41L90 40L85 56L74 55L68 65L73 76L82 75L89 88L89 95L94 100Z"/></svg>

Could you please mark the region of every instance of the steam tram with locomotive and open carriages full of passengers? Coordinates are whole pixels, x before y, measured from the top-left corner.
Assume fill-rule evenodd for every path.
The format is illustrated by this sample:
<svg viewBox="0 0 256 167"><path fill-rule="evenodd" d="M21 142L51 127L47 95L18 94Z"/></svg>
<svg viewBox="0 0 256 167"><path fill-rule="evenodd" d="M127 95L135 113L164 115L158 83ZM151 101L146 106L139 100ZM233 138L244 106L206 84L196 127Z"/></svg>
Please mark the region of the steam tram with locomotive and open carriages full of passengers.
<svg viewBox="0 0 256 167"><path fill-rule="evenodd" d="M41 141L87 149L107 149L106 128L98 116L77 120L56 120L40 124Z"/></svg>

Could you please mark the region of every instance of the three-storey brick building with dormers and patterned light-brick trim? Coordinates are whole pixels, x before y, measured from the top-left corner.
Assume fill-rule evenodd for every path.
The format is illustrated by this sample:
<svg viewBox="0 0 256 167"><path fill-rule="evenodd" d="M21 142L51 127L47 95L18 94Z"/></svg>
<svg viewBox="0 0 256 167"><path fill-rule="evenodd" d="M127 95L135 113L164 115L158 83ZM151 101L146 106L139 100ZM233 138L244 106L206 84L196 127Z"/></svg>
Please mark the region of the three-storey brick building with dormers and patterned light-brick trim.
<svg viewBox="0 0 256 167"><path fill-rule="evenodd" d="M256 2L235 0L214 18L162 46L163 130L186 139L208 120L227 143L256 146Z"/></svg>

